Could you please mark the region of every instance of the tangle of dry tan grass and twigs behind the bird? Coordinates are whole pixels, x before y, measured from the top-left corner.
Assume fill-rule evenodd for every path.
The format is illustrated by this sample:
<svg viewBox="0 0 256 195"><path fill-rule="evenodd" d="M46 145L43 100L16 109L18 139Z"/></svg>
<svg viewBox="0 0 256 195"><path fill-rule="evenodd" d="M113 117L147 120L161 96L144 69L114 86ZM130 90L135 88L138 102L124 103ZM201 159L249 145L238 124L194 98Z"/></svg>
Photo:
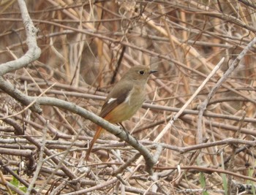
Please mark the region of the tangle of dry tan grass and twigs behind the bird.
<svg viewBox="0 0 256 195"><path fill-rule="evenodd" d="M157 144L154 139L178 111L175 108L187 102L224 57L221 69L187 108L197 110L256 33L256 4L245 0L28 2L31 18L39 28L42 55L26 70L8 73L5 79L30 96L39 96L56 83L43 96L99 113L101 96L129 67L144 64L158 69L147 85L148 102L156 107L141 109L124 123L143 145L149 145L152 154ZM26 34L17 2L0 4L0 62L4 63L13 60L13 55L23 55ZM61 164L43 153L34 186L40 194L72 194L84 189L91 194L240 193L244 184L256 181L255 66L253 47L212 96L200 135L197 112L189 110L168 129L158 142L165 144L165 150L154 167L154 177L149 177L143 169L145 163L136 164L136 159L115 177L113 172L133 158L135 150L110 134L97 142L97 150L86 163L86 142L95 125L67 110L42 106L42 115L26 110L10 118L12 123L1 121L0 156L1 165L6 166L1 167L0 181L13 182L18 177L29 184L39 163L40 148L26 136L15 135L15 123L41 144L45 137L45 148L75 175L68 177ZM0 99L2 116L25 107L3 91ZM198 136L211 145L203 145ZM197 148L189 148L192 146ZM184 148L186 152L181 153ZM18 155L19 150L32 155ZM0 186L1 193L6 190ZM255 194L254 188L244 191Z"/></svg>

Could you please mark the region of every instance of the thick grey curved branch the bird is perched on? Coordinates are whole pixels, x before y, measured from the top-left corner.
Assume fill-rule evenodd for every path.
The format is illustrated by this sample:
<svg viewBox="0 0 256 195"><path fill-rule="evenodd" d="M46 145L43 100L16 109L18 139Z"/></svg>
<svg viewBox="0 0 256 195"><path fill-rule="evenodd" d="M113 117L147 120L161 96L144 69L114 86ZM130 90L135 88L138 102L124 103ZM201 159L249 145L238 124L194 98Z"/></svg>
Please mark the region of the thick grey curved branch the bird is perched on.
<svg viewBox="0 0 256 195"><path fill-rule="evenodd" d="M39 108L39 104L60 107L64 110L69 110L70 112L74 112L78 115L81 115L84 118L87 118L90 121L96 123L97 125L102 126L111 134L116 135L116 137L120 138L121 140L124 140L125 142L129 143L129 145L132 145L133 148L138 150L140 154L145 158L146 171L149 174L153 172L152 167L154 166L154 164L156 164L157 160L151 155L151 153L146 149L146 147L144 147L137 141L137 139L127 134L127 132L120 129L118 126L115 126L112 123L105 121L104 119L100 118L92 112L89 112L86 109L83 109L82 107L78 107L76 104L66 102L61 99L55 99L50 97L26 96L17 88L15 88L11 83L5 81L2 77L0 77L0 88L23 104L29 105L31 102L35 102L34 105L37 106L37 108Z"/></svg>

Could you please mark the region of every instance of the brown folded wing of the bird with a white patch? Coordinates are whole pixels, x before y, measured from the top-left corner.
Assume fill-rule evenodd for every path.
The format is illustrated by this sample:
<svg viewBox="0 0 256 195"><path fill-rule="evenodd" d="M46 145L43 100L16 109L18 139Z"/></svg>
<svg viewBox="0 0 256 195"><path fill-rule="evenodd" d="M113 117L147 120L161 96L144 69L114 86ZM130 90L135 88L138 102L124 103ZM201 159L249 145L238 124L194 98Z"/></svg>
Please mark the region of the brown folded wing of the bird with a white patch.
<svg viewBox="0 0 256 195"><path fill-rule="evenodd" d="M105 116L108 115L111 110L124 102L133 87L133 85L129 83L130 82L125 82L121 83L121 85L117 83L115 85L113 90L108 94L108 97L102 106L102 111L99 113L100 117L105 118Z"/></svg>

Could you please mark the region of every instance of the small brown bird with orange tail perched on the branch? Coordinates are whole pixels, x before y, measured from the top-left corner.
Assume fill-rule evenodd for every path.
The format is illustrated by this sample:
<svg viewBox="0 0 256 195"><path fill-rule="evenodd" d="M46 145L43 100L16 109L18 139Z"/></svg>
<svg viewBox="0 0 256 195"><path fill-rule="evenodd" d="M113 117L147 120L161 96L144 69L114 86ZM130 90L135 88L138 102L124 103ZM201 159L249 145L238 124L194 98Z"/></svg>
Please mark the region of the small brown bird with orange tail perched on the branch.
<svg viewBox="0 0 256 195"><path fill-rule="evenodd" d="M129 69L108 94L99 116L110 123L121 123L135 115L145 100L148 77L154 72L157 71L142 65ZM98 126L86 153L86 161L102 130L102 127Z"/></svg>

